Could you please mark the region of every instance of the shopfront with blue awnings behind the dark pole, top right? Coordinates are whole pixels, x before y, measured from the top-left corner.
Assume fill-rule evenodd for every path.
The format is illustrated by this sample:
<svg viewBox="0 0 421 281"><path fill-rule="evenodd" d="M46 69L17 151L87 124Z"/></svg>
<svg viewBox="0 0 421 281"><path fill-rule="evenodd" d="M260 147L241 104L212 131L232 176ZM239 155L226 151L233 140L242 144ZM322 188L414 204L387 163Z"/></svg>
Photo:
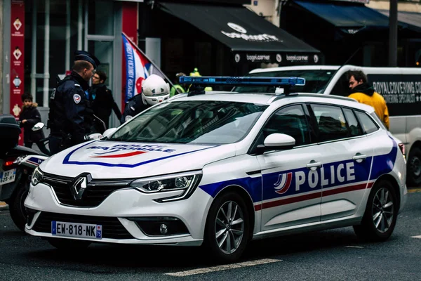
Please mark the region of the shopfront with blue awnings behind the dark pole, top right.
<svg viewBox="0 0 421 281"><path fill-rule="evenodd" d="M389 1L257 0L256 13L319 49L326 63L387 66ZM274 13L275 11L275 13ZM400 67L421 66L421 1L398 2Z"/></svg>

